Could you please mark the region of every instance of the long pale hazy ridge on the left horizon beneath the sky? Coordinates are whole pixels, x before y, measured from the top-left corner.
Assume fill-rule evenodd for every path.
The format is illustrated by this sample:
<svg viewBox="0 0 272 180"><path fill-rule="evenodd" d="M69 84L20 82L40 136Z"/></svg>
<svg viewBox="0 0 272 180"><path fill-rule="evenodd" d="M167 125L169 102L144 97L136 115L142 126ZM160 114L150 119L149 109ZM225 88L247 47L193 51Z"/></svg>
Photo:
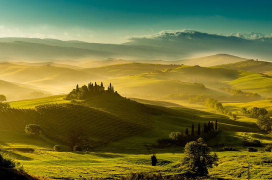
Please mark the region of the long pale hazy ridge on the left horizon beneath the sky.
<svg viewBox="0 0 272 180"><path fill-rule="evenodd" d="M153 46L127 46L119 44L88 43L83 41L61 41L38 38L0 38L2 57L17 58L71 58L105 59L108 57L125 59L179 59L184 52ZM33 51L32 51L33 50ZM16 53L14 53L16 51ZM13 52L13 54L12 54Z"/></svg>

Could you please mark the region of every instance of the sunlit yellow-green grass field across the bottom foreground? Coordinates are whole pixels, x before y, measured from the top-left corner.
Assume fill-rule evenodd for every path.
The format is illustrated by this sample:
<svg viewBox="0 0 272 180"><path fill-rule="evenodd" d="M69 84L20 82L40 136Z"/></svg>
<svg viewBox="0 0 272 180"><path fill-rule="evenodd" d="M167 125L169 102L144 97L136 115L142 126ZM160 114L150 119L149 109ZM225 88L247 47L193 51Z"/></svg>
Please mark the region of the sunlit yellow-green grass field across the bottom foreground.
<svg viewBox="0 0 272 180"><path fill-rule="evenodd" d="M20 133L20 132L19 132ZM186 170L176 168L182 157L182 148L155 149L158 159L157 166L150 165L151 150L130 149L129 151L94 149L91 152L56 152L52 150L53 142L32 138L18 132L0 131L4 139L0 141L2 154L17 159L23 165L26 172L51 178L77 178L79 174L92 177L113 177L125 175L130 172L155 172L162 174L184 173ZM16 137L20 136L19 139ZM231 135L231 134L222 134ZM240 134L237 134L238 136ZM219 137L220 140L224 138ZM213 139L215 140L215 139ZM233 142L234 139L225 139L223 142ZM12 141L12 144L5 142ZM4 145L3 145L4 144ZM235 146L232 143L232 146ZM36 149L27 152L27 148ZM64 147L63 147L64 148ZM236 146L235 146L236 148ZM246 152L242 151L218 151L219 147L213 147L219 156L219 165L210 169L212 177L223 179L247 179L247 163L251 164L251 179L271 179L270 152ZM259 147L263 150L263 147ZM65 150L65 149L64 149Z"/></svg>

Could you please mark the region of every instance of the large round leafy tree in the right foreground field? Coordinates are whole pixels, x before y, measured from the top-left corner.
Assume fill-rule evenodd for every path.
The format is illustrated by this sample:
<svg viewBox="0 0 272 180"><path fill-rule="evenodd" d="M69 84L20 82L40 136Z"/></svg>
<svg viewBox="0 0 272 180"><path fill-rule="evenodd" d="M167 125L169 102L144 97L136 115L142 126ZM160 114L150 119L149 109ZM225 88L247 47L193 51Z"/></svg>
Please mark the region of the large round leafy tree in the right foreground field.
<svg viewBox="0 0 272 180"><path fill-rule="evenodd" d="M202 142L191 141L184 147L184 157L180 159L181 165L198 175L207 175L208 168L218 165L216 153L210 153L211 148Z"/></svg>

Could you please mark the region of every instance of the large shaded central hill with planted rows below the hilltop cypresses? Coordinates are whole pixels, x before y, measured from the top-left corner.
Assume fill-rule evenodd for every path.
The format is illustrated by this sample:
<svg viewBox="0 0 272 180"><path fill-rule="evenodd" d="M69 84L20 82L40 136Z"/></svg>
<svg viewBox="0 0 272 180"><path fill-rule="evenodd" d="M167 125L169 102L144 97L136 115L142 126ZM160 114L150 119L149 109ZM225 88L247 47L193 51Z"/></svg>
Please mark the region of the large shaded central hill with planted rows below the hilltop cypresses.
<svg viewBox="0 0 272 180"><path fill-rule="evenodd" d="M46 98L47 101L50 101L56 97ZM38 99L33 99L33 101L37 104ZM167 108L144 105L121 97L117 93L105 93L76 103L42 103L44 102L41 99L41 105L25 111L25 114L28 114L26 120L19 115L21 120L15 122L12 116L6 116L5 112L0 112L6 118L0 130L19 130L18 127L23 124L36 123L42 127L45 135L63 141L67 129L78 127L91 140L95 140L96 144L108 143L111 144L109 147L112 147L116 145L115 142L124 139L126 141L124 144L114 147L124 149L128 148L125 146L128 141L131 143L133 136L140 138L139 144L134 143L129 145L129 148L154 143L158 138L167 137L171 131L180 131L182 128L190 127L191 123L203 123L208 120L215 121L215 119L222 130L259 131L255 124L248 123L246 120L232 120L224 115L185 107ZM20 108L29 107L28 104L23 105L21 101L12 102L11 106L17 106L16 104L20 104ZM12 109L7 109L7 111Z"/></svg>

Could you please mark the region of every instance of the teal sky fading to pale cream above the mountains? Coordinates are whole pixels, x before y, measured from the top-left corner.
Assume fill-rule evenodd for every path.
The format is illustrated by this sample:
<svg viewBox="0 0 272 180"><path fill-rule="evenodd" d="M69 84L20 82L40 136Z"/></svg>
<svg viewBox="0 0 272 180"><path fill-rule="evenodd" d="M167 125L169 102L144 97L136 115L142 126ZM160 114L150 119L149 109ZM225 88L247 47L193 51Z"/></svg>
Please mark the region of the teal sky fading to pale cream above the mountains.
<svg viewBox="0 0 272 180"><path fill-rule="evenodd" d="M122 43L192 29L272 34L272 0L0 0L0 37Z"/></svg>

